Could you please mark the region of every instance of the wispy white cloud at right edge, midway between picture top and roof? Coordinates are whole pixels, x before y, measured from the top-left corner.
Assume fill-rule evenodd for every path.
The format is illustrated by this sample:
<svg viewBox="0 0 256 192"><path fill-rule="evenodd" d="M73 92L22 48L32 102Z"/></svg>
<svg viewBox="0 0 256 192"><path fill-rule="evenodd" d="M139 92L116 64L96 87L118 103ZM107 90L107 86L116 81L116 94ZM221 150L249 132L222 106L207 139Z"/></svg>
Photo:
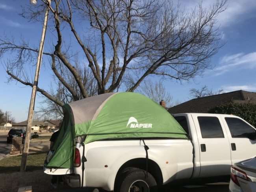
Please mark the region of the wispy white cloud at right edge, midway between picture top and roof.
<svg viewBox="0 0 256 192"><path fill-rule="evenodd" d="M226 55L221 58L220 64L215 68L215 76L224 74L234 68L255 68L256 52L249 54L238 53L234 55Z"/></svg>

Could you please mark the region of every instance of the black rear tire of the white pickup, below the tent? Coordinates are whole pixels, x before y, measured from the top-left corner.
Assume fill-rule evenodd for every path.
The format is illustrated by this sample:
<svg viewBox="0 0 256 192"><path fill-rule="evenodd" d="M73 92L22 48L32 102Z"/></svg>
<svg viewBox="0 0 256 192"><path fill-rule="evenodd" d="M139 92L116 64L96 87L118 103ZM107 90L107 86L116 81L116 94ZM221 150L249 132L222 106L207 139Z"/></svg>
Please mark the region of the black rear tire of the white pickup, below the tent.
<svg viewBox="0 0 256 192"><path fill-rule="evenodd" d="M131 169L122 175L117 192L157 192L155 178L145 170Z"/></svg>

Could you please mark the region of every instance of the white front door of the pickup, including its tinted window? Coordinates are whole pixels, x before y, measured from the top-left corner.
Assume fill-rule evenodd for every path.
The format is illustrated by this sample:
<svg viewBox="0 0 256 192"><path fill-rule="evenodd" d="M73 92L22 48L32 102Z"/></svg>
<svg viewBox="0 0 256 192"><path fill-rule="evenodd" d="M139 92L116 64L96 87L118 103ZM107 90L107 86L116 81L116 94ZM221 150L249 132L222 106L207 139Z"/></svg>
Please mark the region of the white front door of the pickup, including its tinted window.
<svg viewBox="0 0 256 192"><path fill-rule="evenodd" d="M223 117L231 148L232 164L256 156L256 141L250 140L255 135L255 128L236 116Z"/></svg>

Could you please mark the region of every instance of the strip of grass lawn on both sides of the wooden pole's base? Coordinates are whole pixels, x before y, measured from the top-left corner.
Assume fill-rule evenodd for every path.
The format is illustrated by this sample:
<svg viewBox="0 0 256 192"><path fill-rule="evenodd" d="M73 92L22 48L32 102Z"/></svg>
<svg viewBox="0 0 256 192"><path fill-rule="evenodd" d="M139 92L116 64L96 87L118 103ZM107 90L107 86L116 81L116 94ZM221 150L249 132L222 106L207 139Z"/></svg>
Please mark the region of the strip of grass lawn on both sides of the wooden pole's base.
<svg viewBox="0 0 256 192"><path fill-rule="evenodd" d="M46 152L39 152L28 155L28 171L43 170ZM15 157L5 157L0 161L0 173L17 172L20 170L21 155Z"/></svg>

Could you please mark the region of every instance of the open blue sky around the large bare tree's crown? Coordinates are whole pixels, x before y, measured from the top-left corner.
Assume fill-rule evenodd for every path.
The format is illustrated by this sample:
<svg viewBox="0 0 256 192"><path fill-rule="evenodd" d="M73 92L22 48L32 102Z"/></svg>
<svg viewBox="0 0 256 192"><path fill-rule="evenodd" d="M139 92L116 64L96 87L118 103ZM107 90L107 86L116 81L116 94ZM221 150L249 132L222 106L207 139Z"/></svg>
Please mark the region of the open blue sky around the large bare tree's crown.
<svg viewBox="0 0 256 192"><path fill-rule="evenodd" d="M185 4L186 2L186 4ZM189 2L189 3L187 3ZM182 6L192 8L199 0L180 0ZM204 6L213 1L203 0ZM41 24L28 22L19 16L21 6L29 0L0 0L0 37L13 36L16 40L26 39L35 47L39 44ZM256 1L229 0L227 10L222 13L218 22L222 41L225 45L214 55L211 63L214 70L207 70L203 76L182 84L176 81L165 81L165 87L173 96L174 102L185 102L189 99L189 89L207 85L210 89L224 91L247 90L256 92ZM48 31L47 42L54 35ZM7 55L6 57L11 57ZM33 68L30 69L33 73ZM46 67L41 68L39 87L49 89L51 77L47 75ZM6 83L7 74L0 65L0 109L11 111L17 122L25 120L28 114L31 88L20 83ZM43 98L37 96L36 106ZM37 109L37 108L36 108Z"/></svg>

